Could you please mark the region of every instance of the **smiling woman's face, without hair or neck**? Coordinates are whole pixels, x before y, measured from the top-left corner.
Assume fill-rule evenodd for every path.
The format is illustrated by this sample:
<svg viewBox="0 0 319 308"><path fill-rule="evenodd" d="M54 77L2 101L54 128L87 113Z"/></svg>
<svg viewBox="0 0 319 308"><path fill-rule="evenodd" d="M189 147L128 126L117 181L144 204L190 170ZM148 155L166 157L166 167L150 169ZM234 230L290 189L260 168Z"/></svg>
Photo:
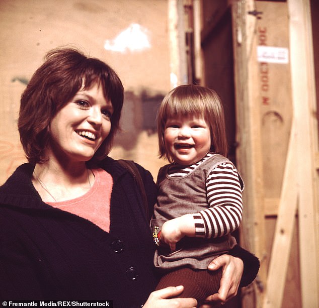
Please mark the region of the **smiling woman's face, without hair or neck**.
<svg viewBox="0 0 319 308"><path fill-rule="evenodd" d="M90 160L110 133L112 113L98 83L79 90L51 121L49 157Z"/></svg>

